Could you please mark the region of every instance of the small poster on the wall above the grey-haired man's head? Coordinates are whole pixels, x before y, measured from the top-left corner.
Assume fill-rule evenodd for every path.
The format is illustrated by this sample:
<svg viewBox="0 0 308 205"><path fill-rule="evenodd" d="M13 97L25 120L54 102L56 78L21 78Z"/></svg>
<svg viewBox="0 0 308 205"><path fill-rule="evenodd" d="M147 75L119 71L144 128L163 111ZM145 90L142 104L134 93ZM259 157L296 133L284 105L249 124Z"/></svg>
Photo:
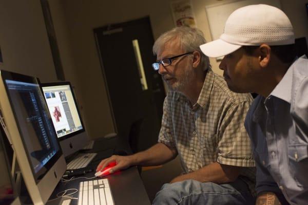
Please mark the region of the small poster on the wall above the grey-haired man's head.
<svg viewBox="0 0 308 205"><path fill-rule="evenodd" d="M197 27L196 18L192 12L192 6L189 0L172 1L170 5L176 26Z"/></svg>

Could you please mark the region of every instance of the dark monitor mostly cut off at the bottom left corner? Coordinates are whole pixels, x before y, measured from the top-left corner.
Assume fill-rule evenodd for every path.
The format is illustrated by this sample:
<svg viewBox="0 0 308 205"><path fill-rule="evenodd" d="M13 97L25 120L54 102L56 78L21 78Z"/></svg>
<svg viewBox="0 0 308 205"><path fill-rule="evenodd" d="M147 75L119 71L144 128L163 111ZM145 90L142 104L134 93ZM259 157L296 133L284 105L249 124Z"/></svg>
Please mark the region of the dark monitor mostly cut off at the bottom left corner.
<svg viewBox="0 0 308 205"><path fill-rule="evenodd" d="M20 198L17 194L15 183L11 174L11 164L7 154L5 143L9 143L6 139L2 127L0 126L0 204L2 205L19 205Z"/></svg>

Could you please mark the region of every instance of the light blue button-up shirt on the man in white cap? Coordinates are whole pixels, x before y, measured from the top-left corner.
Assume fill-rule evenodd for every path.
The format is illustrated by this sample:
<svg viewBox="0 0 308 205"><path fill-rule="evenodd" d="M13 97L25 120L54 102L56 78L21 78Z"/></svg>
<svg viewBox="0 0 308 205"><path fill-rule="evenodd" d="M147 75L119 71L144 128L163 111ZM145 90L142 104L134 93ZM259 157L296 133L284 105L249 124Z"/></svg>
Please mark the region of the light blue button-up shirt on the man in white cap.
<svg viewBox="0 0 308 205"><path fill-rule="evenodd" d="M308 204L308 60L301 57L265 99L249 109L245 128L256 161L256 191Z"/></svg>

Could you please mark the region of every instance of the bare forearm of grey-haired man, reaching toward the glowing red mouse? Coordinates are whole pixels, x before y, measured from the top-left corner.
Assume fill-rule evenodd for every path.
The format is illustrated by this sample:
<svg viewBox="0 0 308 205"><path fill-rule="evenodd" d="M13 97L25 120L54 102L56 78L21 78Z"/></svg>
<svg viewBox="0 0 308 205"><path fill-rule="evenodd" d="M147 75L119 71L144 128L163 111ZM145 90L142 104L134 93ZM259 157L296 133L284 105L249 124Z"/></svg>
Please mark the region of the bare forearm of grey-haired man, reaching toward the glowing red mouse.
<svg viewBox="0 0 308 205"><path fill-rule="evenodd" d="M177 156L177 151L163 143L157 143L148 150L131 155L133 165L152 166L164 164Z"/></svg>

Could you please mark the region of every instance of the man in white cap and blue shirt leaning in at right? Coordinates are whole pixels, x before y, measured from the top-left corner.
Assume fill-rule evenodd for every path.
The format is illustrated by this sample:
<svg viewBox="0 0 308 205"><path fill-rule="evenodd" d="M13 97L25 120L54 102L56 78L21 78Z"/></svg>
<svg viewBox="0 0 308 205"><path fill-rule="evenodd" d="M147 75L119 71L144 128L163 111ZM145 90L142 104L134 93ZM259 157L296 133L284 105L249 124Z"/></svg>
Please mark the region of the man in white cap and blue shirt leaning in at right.
<svg viewBox="0 0 308 205"><path fill-rule="evenodd" d="M200 46L208 57L224 56L219 67L231 90L259 94L245 119L257 204L283 203L281 193L291 204L308 204L308 60L296 59L294 43L280 9L250 5L228 17L219 40Z"/></svg>

